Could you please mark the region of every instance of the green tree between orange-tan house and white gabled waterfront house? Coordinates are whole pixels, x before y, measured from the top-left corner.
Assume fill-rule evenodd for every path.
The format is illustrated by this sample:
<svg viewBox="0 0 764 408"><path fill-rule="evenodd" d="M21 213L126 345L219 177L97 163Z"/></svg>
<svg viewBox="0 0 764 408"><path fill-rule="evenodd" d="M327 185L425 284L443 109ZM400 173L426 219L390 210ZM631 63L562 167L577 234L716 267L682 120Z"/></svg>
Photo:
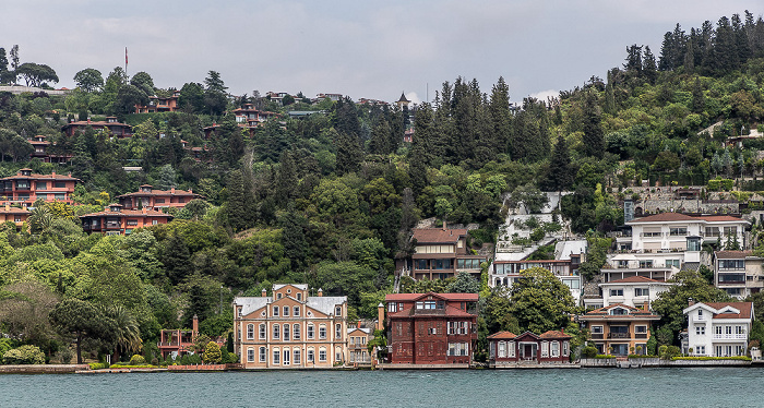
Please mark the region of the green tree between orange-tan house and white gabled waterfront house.
<svg viewBox="0 0 764 408"><path fill-rule="evenodd" d="M673 332L673 339L684 326L682 310L688 307L689 299L695 302L730 300L726 291L708 285L706 279L694 271L680 271L669 281L676 285L658 295L658 298L653 301L653 311L661 316L661 325L668 326Z"/></svg>

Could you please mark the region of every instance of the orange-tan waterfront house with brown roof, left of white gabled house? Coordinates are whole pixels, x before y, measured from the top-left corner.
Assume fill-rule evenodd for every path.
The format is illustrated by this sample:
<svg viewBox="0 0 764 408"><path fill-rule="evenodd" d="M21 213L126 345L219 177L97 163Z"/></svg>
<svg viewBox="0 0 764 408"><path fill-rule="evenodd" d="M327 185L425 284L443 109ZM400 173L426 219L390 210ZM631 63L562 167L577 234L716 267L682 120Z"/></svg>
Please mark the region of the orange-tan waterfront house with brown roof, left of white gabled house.
<svg viewBox="0 0 764 408"><path fill-rule="evenodd" d="M578 316L578 322L589 331L589 341L601 355L644 355L647 351L649 327L660 320L649 311L626 304L611 304Z"/></svg>

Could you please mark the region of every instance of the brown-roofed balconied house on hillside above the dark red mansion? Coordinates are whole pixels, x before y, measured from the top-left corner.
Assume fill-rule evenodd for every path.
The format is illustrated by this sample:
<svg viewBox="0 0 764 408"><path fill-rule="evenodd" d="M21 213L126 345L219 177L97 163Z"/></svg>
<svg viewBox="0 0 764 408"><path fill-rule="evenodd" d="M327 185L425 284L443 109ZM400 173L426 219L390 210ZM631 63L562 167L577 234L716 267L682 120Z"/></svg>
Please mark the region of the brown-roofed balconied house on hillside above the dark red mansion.
<svg viewBox="0 0 764 408"><path fill-rule="evenodd" d="M466 229L415 228L414 254L401 269L410 271L414 279L446 279L459 271L480 274L486 256L473 255L467 247Z"/></svg>

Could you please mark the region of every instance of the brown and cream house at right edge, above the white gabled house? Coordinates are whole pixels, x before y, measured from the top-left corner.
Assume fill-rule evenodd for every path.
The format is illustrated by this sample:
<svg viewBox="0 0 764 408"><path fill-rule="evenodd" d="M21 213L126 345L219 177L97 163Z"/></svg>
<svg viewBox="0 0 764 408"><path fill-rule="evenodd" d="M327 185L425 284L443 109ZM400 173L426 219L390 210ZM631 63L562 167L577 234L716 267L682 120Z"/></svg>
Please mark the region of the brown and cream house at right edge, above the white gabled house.
<svg viewBox="0 0 764 408"><path fill-rule="evenodd" d="M744 299L764 288L764 257L752 251L714 252L714 286Z"/></svg>

